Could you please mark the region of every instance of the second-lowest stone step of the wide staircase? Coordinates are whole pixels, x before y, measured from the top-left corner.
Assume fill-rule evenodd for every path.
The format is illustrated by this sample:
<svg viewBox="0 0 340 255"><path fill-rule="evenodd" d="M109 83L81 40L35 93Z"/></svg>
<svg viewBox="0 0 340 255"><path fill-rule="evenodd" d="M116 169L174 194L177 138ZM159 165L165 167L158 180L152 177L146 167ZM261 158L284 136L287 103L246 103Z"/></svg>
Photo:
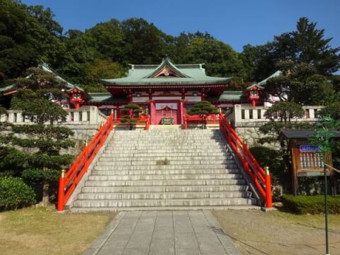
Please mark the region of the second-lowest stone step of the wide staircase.
<svg viewBox="0 0 340 255"><path fill-rule="evenodd" d="M197 199L197 198L249 198L249 191L242 192L163 192L163 193L81 193L78 200L108 200L108 199Z"/></svg>

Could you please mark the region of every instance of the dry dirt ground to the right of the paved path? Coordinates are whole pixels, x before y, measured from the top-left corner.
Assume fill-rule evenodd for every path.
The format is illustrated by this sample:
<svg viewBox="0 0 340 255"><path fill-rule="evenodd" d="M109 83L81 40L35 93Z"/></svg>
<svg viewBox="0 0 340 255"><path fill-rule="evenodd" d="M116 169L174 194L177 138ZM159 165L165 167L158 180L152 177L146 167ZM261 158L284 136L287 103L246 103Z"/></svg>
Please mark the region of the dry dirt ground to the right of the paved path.
<svg viewBox="0 0 340 255"><path fill-rule="evenodd" d="M325 254L324 215L278 210L212 212L242 254ZM329 253L340 254L340 215L329 216Z"/></svg>

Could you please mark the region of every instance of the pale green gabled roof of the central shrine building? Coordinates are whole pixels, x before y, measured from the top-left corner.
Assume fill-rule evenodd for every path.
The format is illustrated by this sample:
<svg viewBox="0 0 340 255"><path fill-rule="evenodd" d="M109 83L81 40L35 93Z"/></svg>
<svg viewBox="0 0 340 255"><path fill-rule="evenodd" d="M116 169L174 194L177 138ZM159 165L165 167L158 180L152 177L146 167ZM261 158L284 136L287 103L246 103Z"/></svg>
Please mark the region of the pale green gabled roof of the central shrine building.
<svg viewBox="0 0 340 255"><path fill-rule="evenodd" d="M102 79L104 85L185 85L185 84L226 84L230 77L209 77L205 74L203 64L173 64L166 58L159 65L130 64L128 77L119 79ZM154 77L165 67L177 76Z"/></svg>

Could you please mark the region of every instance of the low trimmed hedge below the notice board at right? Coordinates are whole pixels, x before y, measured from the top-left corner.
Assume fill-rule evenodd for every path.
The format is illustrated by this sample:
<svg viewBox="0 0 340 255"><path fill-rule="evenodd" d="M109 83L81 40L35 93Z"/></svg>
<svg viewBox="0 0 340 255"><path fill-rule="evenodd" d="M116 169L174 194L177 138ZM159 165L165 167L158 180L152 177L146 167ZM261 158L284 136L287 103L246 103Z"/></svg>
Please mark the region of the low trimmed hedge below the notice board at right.
<svg viewBox="0 0 340 255"><path fill-rule="evenodd" d="M293 196L282 197L283 206L300 215L310 213L312 215L324 213L324 196ZM328 212L340 214L340 196L328 197Z"/></svg>

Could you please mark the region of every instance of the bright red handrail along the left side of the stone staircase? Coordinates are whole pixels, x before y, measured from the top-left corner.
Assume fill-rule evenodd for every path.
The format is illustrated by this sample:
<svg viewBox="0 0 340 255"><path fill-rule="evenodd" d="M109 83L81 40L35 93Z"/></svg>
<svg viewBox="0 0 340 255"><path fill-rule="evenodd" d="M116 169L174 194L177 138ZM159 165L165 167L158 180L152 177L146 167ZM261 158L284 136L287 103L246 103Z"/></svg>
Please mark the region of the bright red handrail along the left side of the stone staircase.
<svg viewBox="0 0 340 255"><path fill-rule="evenodd" d="M106 137L108 137L110 132L113 130L114 125L113 113L111 113L106 122L102 123L101 128L99 128L99 130L96 132L96 135L94 135L91 142L84 146L83 151L81 154L79 154L69 170L62 170L62 174L59 179L57 202L58 211L64 210L67 200L72 195L79 181L86 173L94 157L96 157L98 150L103 146L104 142L106 141Z"/></svg>

